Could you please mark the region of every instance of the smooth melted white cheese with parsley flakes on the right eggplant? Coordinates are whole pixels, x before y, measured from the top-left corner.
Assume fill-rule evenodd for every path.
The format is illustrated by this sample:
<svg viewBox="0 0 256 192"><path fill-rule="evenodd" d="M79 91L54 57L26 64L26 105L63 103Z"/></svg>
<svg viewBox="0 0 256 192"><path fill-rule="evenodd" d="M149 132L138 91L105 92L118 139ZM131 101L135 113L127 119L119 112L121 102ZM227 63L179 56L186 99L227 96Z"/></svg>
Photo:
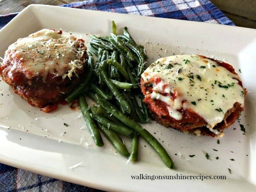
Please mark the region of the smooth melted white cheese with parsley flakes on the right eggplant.
<svg viewBox="0 0 256 192"><path fill-rule="evenodd" d="M146 97L167 103L170 117L181 120L183 117L177 110L191 109L208 123L207 127L215 134L219 132L213 127L223 121L234 103L244 105L244 92L238 75L198 55L158 59L141 77L145 83L156 77L161 79ZM160 93L175 94L175 99Z"/></svg>

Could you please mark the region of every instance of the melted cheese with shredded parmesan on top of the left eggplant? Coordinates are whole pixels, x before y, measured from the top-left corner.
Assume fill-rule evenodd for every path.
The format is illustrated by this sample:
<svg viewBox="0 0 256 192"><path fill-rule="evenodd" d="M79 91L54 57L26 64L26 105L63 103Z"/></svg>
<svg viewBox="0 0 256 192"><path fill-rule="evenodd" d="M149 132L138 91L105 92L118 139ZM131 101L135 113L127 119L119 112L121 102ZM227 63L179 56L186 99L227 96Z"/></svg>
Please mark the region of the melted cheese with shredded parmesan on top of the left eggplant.
<svg viewBox="0 0 256 192"><path fill-rule="evenodd" d="M84 51L86 47L74 36L43 29L9 46L5 53L12 63L8 75L12 78L15 71L22 71L28 79L42 76L44 81L48 74L70 78L83 67Z"/></svg>

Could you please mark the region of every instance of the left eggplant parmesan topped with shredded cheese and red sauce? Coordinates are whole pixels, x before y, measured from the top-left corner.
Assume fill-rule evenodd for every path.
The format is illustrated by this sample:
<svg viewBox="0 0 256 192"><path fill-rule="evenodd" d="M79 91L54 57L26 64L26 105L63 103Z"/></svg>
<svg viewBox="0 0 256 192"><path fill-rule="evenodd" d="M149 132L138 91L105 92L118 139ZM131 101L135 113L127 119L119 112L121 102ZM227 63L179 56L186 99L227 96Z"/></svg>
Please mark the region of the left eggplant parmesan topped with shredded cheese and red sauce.
<svg viewBox="0 0 256 192"><path fill-rule="evenodd" d="M82 39L43 29L9 46L0 75L14 93L49 112L80 84L86 49Z"/></svg>

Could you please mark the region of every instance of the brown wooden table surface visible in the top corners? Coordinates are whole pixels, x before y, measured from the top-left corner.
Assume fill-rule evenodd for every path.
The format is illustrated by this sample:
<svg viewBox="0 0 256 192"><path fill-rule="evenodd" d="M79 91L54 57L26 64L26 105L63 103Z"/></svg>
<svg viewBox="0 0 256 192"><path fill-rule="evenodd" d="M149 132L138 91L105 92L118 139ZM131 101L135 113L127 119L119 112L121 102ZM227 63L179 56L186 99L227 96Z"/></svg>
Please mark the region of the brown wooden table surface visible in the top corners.
<svg viewBox="0 0 256 192"><path fill-rule="evenodd" d="M22 11L30 4L61 5L82 0L0 0L0 15ZM211 0L237 26L256 29L256 0Z"/></svg>

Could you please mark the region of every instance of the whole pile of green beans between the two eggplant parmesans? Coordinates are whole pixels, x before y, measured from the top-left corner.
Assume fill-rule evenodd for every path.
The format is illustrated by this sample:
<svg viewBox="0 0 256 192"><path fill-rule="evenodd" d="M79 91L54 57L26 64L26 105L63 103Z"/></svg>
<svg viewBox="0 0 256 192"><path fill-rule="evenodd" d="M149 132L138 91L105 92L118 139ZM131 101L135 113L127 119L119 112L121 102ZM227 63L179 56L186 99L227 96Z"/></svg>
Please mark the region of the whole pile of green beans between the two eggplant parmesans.
<svg viewBox="0 0 256 192"><path fill-rule="evenodd" d="M144 47L134 41L127 27L123 35L116 34L114 21L109 36L90 37L89 50L95 54L97 61L94 63L93 54L88 51L86 78L66 100L70 103L78 99L86 125L97 146L104 145L101 132L120 154L134 162L138 157L141 137L169 168L174 168L167 151L139 124L150 120L147 106L142 101L144 95L139 88L140 76L147 60ZM88 106L87 97L94 100L98 107ZM130 151L122 140L123 136L131 139Z"/></svg>

